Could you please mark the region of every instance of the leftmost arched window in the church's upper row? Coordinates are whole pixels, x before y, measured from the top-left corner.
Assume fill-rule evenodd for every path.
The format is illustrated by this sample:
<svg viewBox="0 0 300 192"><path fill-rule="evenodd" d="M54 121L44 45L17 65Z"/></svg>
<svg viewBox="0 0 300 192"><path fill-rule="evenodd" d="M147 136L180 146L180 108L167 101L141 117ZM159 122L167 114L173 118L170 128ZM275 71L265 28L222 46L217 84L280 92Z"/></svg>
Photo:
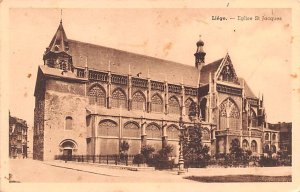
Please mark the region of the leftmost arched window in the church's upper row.
<svg viewBox="0 0 300 192"><path fill-rule="evenodd" d="M99 85L93 86L89 91L89 103L91 105L100 105L105 107L106 94L103 87Z"/></svg>

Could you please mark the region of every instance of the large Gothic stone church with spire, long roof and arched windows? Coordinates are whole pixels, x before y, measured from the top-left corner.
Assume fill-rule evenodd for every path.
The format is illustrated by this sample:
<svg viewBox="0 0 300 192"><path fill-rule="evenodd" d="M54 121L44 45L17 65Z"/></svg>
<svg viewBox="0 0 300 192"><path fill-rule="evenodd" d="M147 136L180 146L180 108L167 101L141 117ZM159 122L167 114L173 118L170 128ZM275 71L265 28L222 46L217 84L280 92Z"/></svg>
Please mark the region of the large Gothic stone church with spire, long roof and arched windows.
<svg viewBox="0 0 300 192"><path fill-rule="evenodd" d="M233 140L254 155L278 150L278 131L265 127L263 98L237 76L228 54L206 64L203 47L199 40L194 66L184 65L68 39L60 22L38 67L34 159L118 154L122 141L129 154L170 144L176 155L179 119L195 123L191 103L211 155L229 153Z"/></svg>

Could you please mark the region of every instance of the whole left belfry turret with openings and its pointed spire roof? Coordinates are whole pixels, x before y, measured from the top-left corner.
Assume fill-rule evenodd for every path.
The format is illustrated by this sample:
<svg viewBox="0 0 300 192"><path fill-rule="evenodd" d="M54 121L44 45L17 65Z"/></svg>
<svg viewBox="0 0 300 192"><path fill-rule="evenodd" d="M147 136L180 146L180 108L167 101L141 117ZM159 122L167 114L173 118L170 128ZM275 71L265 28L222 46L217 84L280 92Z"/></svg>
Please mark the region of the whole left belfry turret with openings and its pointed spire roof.
<svg viewBox="0 0 300 192"><path fill-rule="evenodd" d="M63 71L73 71L72 56L69 53L69 42L62 21L44 53L44 64Z"/></svg>

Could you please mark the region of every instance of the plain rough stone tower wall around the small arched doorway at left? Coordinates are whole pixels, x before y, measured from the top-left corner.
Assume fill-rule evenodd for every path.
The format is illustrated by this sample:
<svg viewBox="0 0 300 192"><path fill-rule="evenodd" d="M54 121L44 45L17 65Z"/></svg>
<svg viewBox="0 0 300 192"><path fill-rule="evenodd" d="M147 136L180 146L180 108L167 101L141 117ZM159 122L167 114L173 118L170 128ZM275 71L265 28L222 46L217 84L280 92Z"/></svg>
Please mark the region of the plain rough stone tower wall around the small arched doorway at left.
<svg viewBox="0 0 300 192"><path fill-rule="evenodd" d="M85 85L48 80L45 94L44 160L61 155L65 140L76 144L72 154L86 154ZM72 117L72 129L66 130L66 117Z"/></svg>

